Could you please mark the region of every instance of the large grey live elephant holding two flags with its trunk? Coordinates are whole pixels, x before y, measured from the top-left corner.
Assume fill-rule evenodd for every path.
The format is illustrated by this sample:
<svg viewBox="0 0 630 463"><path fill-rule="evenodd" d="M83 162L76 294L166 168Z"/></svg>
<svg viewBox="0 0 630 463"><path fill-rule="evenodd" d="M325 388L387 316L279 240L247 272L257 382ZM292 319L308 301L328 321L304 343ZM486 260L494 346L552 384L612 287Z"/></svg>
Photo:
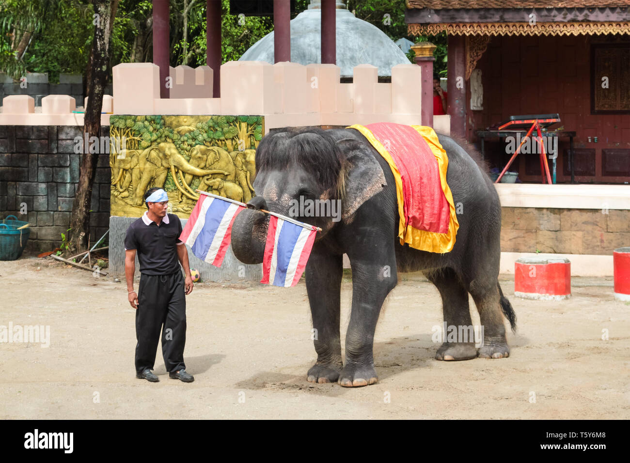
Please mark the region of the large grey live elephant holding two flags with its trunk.
<svg viewBox="0 0 630 463"><path fill-rule="evenodd" d="M440 292L447 326L472 327L468 295L479 312L483 345L445 339L437 360L508 357L503 317L512 330L516 315L498 282L501 207L495 187L472 150L446 135L438 140L447 153L447 183L459 230L453 248L443 254L402 246L398 238L398 200L389 164L358 130L317 127L276 129L256 150L256 196L236 216L232 251L239 261L263 261L269 215L289 215L299 197L340 200L341 220L295 217L321 227L306 265L316 363L308 382L367 386L378 380L374 369L374 331L382 304L398 282L398 272L422 271ZM352 312L340 345L340 290L343 254L352 268ZM455 342L452 342L455 341Z"/></svg>

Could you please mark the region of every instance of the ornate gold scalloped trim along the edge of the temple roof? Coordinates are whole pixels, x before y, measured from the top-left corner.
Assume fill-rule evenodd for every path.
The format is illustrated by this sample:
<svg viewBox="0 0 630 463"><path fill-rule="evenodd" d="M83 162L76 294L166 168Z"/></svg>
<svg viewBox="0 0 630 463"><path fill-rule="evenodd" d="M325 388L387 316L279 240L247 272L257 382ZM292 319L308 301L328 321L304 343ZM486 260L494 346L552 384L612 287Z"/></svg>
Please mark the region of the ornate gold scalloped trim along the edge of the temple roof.
<svg viewBox="0 0 630 463"><path fill-rule="evenodd" d="M630 23L454 23L410 24L410 35L607 35L630 34Z"/></svg>

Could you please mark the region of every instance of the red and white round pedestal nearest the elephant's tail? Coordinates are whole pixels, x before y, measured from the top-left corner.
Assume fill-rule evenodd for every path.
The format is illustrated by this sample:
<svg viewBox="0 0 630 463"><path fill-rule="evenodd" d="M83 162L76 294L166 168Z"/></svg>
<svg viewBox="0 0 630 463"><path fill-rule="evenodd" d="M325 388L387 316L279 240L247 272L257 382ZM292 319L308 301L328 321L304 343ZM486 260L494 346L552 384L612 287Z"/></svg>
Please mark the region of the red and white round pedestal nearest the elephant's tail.
<svg viewBox="0 0 630 463"><path fill-rule="evenodd" d="M524 299L568 299L571 262L564 258L518 259L514 263L514 295Z"/></svg>

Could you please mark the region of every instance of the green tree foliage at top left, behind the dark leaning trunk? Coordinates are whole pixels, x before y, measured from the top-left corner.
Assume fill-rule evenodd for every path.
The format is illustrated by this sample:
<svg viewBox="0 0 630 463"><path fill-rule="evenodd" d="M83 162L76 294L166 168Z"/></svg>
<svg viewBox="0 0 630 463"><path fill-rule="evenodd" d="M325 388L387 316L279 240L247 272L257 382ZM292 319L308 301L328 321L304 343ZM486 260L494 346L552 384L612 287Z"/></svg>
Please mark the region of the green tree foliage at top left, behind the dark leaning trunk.
<svg viewBox="0 0 630 463"><path fill-rule="evenodd" d="M112 30L112 66L151 60L152 8L150 0L120 1ZM59 81L60 72L83 74L93 14L88 0L0 0L0 70L14 79L26 71L48 72L50 82ZM28 47L21 52L25 35Z"/></svg>

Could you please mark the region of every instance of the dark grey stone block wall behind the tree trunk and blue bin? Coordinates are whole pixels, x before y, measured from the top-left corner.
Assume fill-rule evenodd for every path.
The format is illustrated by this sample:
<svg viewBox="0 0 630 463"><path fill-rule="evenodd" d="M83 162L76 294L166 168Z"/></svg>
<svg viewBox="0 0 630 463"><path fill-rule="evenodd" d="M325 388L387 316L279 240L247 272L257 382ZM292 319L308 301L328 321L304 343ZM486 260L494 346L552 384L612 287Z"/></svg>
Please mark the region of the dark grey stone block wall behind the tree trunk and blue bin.
<svg viewBox="0 0 630 463"><path fill-rule="evenodd" d="M52 251L66 233L79 180L81 154L74 137L83 127L0 125L0 219L13 214L28 220L27 252ZM109 127L101 127L109 135ZM109 155L100 154L90 209L91 240L109 227L111 173ZM20 214L22 205L26 214Z"/></svg>

